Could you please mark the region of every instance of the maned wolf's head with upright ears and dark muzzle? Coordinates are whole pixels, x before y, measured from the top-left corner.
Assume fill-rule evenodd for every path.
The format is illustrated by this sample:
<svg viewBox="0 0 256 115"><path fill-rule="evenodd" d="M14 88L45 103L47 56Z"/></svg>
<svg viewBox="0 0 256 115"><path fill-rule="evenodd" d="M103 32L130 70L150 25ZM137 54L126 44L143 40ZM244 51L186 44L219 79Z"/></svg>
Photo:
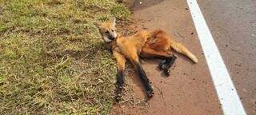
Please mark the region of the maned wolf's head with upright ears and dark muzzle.
<svg viewBox="0 0 256 115"><path fill-rule="evenodd" d="M114 42L118 37L115 27L115 18L110 19L108 22L102 22L96 25L98 26L99 32L102 34L104 42Z"/></svg>

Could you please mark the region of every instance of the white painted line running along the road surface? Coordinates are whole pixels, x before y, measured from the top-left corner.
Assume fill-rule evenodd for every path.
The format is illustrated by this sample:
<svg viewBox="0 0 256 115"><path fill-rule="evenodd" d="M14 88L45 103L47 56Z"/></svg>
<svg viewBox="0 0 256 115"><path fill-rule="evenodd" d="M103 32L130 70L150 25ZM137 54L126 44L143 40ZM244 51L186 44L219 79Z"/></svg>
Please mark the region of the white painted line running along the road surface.
<svg viewBox="0 0 256 115"><path fill-rule="evenodd" d="M210 33L198 2L196 0L187 0L187 3L210 69L210 75L218 93L218 99L222 104L223 113L225 115L246 115L246 111L238 97L237 90L234 88L230 74Z"/></svg>

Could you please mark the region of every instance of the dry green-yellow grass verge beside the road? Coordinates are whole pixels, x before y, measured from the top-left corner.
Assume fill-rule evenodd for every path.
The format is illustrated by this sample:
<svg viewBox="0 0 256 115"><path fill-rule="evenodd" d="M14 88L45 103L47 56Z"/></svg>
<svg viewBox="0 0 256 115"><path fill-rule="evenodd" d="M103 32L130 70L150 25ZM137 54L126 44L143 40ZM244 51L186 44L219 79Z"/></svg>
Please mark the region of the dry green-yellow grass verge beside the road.
<svg viewBox="0 0 256 115"><path fill-rule="evenodd" d="M0 114L107 114L116 64L94 22L114 0L0 0Z"/></svg>

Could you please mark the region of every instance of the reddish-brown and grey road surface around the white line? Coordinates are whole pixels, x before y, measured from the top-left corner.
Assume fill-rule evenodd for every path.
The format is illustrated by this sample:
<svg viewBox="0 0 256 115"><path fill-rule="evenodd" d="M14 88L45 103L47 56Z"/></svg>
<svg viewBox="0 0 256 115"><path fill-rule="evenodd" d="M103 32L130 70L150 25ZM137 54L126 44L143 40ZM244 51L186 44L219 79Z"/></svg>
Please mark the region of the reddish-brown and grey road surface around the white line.
<svg viewBox="0 0 256 115"><path fill-rule="evenodd" d="M198 0L203 17L248 115L256 114L256 1ZM186 0L140 0L134 17L142 29L162 29L182 42L199 60L193 64L178 55L170 77L163 77L157 61L143 64L154 86L150 107L122 109L123 114L224 114L216 85ZM217 64L218 65L218 64ZM139 82L135 84L140 87ZM235 90L234 89L234 90ZM232 89L233 90L233 89ZM142 94L141 89L135 93ZM231 104L232 105L232 104ZM226 113L229 114L229 113Z"/></svg>

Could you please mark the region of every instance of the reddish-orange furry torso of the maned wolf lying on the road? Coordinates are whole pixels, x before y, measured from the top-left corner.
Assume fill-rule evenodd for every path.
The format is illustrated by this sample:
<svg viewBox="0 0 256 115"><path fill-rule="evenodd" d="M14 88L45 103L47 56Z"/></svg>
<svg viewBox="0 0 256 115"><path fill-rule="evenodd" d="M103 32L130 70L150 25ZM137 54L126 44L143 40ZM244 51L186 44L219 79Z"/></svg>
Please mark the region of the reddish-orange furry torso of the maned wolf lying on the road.
<svg viewBox="0 0 256 115"><path fill-rule="evenodd" d="M148 32L146 30L138 31L130 37L118 37L112 49L118 50L121 54L129 55L129 52L136 51L139 55L143 47L150 47L154 50L170 50L170 38L166 38L166 33L162 30Z"/></svg>

